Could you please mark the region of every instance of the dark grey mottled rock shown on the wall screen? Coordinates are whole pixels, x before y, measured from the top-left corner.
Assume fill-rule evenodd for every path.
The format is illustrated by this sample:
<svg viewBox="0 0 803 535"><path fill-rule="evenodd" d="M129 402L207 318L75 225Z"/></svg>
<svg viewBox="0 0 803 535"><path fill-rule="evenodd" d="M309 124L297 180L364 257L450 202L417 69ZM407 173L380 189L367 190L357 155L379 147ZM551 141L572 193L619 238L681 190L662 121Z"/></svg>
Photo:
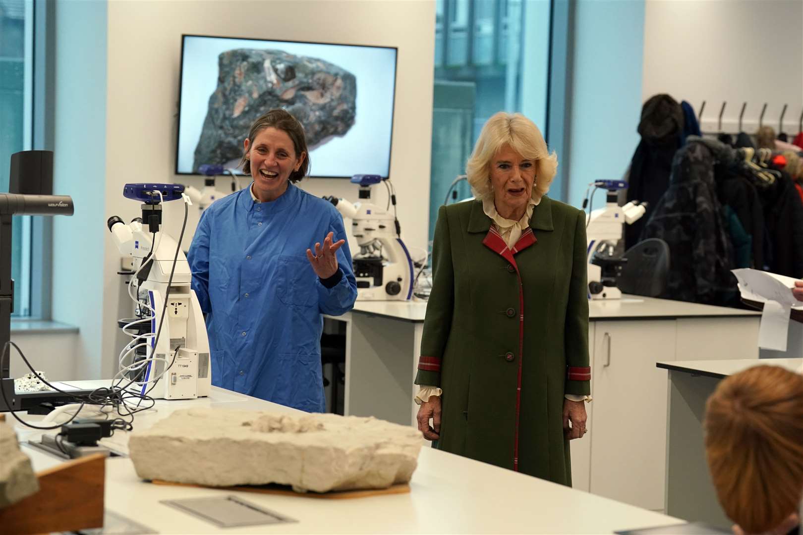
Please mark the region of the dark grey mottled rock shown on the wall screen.
<svg viewBox="0 0 803 535"><path fill-rule="evenodd" d="M304 125L307 144L349 132L357 116L357 79L323 61L278 50L238 48L218 56L218 88L210 96L194 169L243 156L243 140L259 116L282 107Z"/></svg>

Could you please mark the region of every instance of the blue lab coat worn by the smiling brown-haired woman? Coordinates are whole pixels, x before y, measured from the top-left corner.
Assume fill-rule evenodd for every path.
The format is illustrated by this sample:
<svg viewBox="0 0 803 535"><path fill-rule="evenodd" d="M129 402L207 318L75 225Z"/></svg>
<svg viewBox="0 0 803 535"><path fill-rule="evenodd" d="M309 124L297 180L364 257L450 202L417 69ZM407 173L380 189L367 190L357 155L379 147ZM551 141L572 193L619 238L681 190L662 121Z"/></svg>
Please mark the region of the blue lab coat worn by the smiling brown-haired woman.
<svg viewBox="0 0 803 535"><path fill-rule="evenodd" d="M255 202L249 186L204 211L187 259L206 313L212 384L326 410L321 314L344 314L357 299L348 242L336 253L342 278L332 288L306 257L330 231L346 238L337 209L293 184L276 201Z"/></svg>

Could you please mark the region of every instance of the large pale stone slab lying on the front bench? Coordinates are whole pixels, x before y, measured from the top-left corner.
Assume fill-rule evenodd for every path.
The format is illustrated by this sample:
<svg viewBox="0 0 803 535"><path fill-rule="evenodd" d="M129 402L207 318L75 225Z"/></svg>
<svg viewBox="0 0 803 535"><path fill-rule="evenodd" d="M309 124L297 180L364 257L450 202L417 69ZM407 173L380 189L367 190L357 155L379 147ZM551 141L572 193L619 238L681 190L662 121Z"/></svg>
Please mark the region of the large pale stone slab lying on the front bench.
<svg viewBox="0 0 803 535"><path fill-rule="evenodd" d="M146 480L328 492L406 483L421 446L415 428L375 418L185 409L133 432L128 451Z"/></svg>

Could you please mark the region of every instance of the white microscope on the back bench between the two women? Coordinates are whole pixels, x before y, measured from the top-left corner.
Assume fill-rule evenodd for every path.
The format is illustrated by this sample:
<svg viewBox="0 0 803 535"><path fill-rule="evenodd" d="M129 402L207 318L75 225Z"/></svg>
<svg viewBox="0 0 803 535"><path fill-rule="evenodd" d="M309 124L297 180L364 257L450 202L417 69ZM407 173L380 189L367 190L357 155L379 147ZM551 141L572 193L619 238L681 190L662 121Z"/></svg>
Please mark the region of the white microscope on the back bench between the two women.
<svg viewBox="0 0 803 535"><path fill-rule="evenodd" d="M352 204L344 199L324 197L335 205L344 218L352 220L352 234L360 252L353 256L357 298L365 301L409 300L413 297L413 260L401 237L401 227L388 210L369 203L371 186L379 184L379 175L355 175L360 184L360 199ZM395 209L396 196L391 195Z"/></svg>

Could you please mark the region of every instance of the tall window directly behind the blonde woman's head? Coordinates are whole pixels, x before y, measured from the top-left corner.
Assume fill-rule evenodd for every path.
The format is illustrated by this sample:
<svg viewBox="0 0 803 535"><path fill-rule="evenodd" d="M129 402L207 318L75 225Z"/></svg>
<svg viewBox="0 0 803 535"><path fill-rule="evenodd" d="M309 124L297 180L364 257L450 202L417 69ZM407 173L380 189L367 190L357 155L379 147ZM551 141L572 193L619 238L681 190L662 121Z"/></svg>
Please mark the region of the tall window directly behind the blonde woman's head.
<svg viewBox="0 0 803 535"><path fill-rule="evenodd" d="M544 132L550 13L545 1L437 0L430 240L438 207L489 117L520 111ZM471 196L465 180L454 189L457 199Z"/></svg>

